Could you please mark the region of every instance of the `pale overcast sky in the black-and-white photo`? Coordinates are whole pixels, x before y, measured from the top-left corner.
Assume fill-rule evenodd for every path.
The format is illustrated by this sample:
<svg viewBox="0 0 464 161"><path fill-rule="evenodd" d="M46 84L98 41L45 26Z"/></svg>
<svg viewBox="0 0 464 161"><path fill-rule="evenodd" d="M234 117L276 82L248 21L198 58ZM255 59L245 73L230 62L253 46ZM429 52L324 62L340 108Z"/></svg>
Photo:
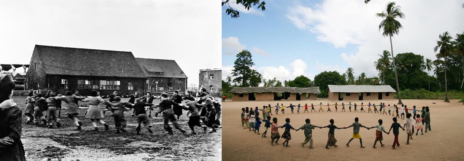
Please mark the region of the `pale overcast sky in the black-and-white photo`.
<svg viewBox="0 0 464 161"><path fill-rule="evenodd" d="M221 68L221 2L0 0L0 63L29 64L34 45L130 51L175 60L198 85ZM18 69L22 70L22 69Z"/></svg>

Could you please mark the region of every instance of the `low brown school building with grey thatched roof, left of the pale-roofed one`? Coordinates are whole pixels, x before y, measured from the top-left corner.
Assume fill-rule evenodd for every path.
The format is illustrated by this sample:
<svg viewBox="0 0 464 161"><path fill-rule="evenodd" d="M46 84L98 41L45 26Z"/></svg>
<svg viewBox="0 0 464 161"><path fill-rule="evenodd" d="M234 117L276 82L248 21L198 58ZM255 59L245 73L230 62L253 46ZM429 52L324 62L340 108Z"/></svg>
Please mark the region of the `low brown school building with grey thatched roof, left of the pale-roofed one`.
<svg viewBox="0 0 464 161"><path fill-rule="evenodd" d="M317 99L319 87L234 87L232 101L274 101Z"/></svg>

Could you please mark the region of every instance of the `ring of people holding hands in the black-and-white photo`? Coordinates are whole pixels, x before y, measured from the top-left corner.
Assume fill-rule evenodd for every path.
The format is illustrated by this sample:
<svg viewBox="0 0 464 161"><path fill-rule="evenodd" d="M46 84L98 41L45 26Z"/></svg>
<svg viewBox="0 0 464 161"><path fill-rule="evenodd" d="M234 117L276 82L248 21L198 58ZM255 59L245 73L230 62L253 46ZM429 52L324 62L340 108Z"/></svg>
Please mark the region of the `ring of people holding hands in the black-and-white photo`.
<svg viewBox="0 0 464 161"><path fill-rule="evenodd" d="M153 133L148 118L152 118L151 112L154 111L154 108L158 108L154 111L155 117L162 113L164 130L168 131L166 134L173 134L168 122L172 122L174 128L180 130L180 132L186 132L177 124L177 120L182 115L182 109L188 111L188 126L192 130L190 134L196 134L193 128L195 126L201 127L205 131L209 127L212 129L210 133L216 132L216 128L220 128L221 105L217 99L206 93L204 88L200 93L196 93L196 97L191 95L188 90L182 96L178 90L175 90L171 98L168 97L167 91L164 91L159 96L153 96L150 92L145 94L139 96L139 93L135 92L131 95L119 95L117 91L114 91L112 95L100 96L99 92L92 90L90 96L83 97L76 90L74 93L66 91L65 96L61 94L55 95L52 91L49 91L44 97L40 90L30 90L26 99L26 124L40 126L39 122L43 122L48 128L54 128L55 125L61 127L58 117L61 117L61 101L64 101L67 104L67 117L71 118L77 126L75 130L82 130L82 122L76 116L79 114L78 102L86 101L90 104L90 107L85 112L84 117L90 119L94 131L98 131L97 122L103 124L105 130L109 130L110 126L103 121L103 118L106 111L111 111L111 116L115 121L116 133L126 132L126 120L123 112L134 109L131 116L136 117L138 122L138 126L135 128L137 135L140 135L142 124L148 132ZM109 98L109 100L104 100L105 98ZM130 99L128 102L122 102L121 98ZM160 103L153 104L154 99L160 99ZM182 104L182 102L186 104ZM106 109L102 110L100 104L106 105ZM46 111L45 116L43 111ZM58 116L56 111L58 111ZM149 111L148 117L146 111ZM174 115L177 116L177 119Z"/></svg>

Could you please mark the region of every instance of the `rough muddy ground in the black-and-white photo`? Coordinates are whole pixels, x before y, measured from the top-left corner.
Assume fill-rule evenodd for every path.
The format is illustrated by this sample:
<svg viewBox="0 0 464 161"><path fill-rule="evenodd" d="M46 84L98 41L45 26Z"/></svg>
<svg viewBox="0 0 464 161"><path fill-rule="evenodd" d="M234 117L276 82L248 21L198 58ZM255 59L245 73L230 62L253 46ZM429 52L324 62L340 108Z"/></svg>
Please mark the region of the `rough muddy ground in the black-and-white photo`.
<svg viewBox="0 0 464 161"><path fill-rule="evenodd" d="M14 96L13 99L24 111L26 97ZM154 103L157 103L155 101ZM85 105L85 102L79 104ZM63 107L65 106L63 103ZM110 130L105 131L103 125L97 124L100 131L91 131L93 126L90 119L84 118L85 111L85 107L80 107L78 118L84 123L81 131L74 130L75 126L67 117L60 118L61 128L48 129L45 126L27 125L24 116L21 141L26 151L26 160L217 161L221 158L221 129L210 134L209 130L203 131L202 128L196 127L197 135L183 134L174 129L174 135L166 135L161 117L153 116L150 122L154 133L150 134L142 129L142 135L136 135L133 131L137 126L135 117L130 116L132 111L126 111L124 113L128 121L128 133L115 134L114 120L108 111L104 121L110 125ZM61 115L64 116L65 113L66 110L62 110ZM186 113L184 110L178 123L182 129L190 132Z"/></svg>

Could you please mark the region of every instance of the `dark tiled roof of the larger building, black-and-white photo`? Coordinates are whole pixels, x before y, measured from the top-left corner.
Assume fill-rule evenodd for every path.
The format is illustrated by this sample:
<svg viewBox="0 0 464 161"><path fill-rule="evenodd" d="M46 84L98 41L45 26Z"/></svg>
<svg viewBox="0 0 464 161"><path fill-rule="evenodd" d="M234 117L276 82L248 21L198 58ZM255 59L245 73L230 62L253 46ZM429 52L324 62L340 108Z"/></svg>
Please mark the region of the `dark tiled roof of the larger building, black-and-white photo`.
<svg viewBox="0 0 464 161"><path fill-rule="evenodd" d="M132 52L35 45L45 74L145 78Z"/></svg>

